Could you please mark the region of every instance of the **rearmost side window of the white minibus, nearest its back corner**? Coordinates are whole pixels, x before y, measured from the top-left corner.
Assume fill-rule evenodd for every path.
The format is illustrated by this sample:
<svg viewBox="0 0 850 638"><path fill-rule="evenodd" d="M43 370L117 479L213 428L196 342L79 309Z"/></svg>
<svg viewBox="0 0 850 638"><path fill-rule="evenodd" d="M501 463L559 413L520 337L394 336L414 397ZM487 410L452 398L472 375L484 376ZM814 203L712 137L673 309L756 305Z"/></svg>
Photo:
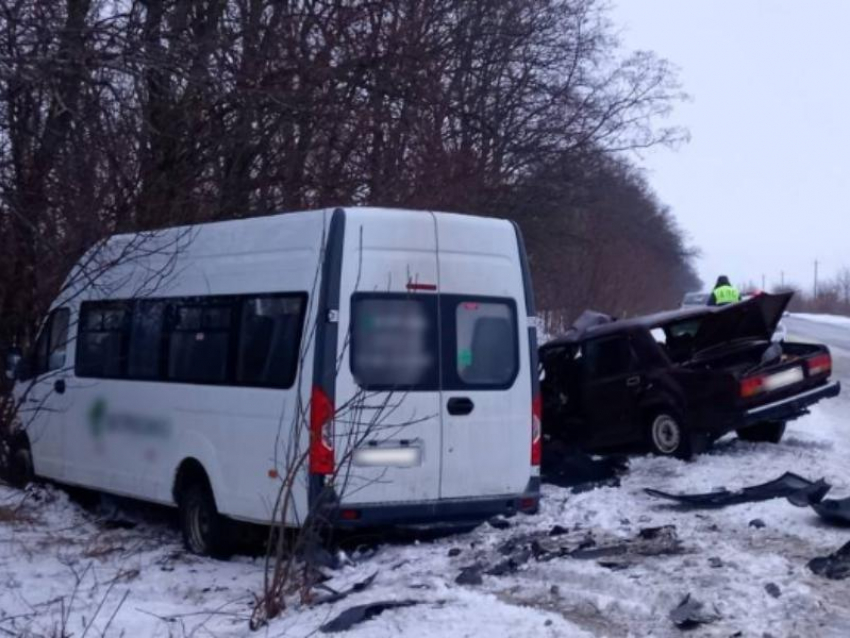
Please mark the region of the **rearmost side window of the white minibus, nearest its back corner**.
<svg viewBox="0 0 850 638"><path fill-rule="evenodd" d="M241 303L236 382L291 388L298 369L304 295L248 297Z"/></svg>

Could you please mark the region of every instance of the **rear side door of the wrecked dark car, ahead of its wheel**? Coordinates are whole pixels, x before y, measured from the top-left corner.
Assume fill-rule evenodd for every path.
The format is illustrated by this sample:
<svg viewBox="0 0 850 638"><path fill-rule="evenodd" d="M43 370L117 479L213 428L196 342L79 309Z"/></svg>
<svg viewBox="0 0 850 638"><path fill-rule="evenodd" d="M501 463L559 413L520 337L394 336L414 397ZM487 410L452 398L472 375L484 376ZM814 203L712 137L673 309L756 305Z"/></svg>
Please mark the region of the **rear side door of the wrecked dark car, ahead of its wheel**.
<svg viewBox="0 0 850 638"><path fill-rule="evenodd" d="M641 376L628 335L611 335L582 346L583 403L592 445L619 445L634 438L636 394Z"/></svg>

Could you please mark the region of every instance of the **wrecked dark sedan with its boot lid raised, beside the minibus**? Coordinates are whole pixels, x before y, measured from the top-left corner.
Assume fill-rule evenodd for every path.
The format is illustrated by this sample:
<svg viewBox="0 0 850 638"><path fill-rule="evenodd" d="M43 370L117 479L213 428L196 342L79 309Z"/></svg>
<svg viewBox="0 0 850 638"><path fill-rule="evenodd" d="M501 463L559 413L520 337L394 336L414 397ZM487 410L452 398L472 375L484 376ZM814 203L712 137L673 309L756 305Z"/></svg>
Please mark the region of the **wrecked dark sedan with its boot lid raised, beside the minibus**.
<svg viewBox="0 0 850 638"><path fill-rule="evenodd" d="M546 440L688 458L733 430L778 443L841 390L824 345L771 343L791 294L627 320L585 313L540 348Z"/></svg>

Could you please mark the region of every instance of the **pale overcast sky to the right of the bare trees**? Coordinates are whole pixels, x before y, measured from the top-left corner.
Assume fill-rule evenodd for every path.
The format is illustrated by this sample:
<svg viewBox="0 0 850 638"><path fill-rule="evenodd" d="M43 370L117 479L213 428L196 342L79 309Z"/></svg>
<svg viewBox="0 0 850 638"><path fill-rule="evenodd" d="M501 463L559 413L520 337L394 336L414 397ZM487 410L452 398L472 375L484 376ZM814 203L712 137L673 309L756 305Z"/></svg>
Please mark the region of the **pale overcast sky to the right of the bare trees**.
<svg viewBox="0 0 850 638"><path fill-rule="evenodd" d="M850 1L614 0L628 49L680 69L691 142L639 159L706 284L811 290L850 267Z"/></svg>

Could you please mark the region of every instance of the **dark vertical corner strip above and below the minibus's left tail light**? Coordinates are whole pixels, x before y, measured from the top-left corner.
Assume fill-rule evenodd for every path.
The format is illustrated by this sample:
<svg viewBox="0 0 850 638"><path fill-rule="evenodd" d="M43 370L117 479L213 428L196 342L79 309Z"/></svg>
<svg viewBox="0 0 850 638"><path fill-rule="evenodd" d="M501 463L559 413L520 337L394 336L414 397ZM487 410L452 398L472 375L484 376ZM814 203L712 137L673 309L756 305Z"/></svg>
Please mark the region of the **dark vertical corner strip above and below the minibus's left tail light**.
<svg viewBox="0 0 850 638"><path fill-rule="evenodd" d="M334 403L336 399L337 345L339 322L330 321L332 310L339 312L340 281L342 279L342 249L345 237L345 211L337 208L328 228L328 239L322 262L322 282L319 288L319 303L316 314L316 352L313 361L313 386L321 388L325 396ZM327 497L325 477L310 475L310 511Z"/></svg>

